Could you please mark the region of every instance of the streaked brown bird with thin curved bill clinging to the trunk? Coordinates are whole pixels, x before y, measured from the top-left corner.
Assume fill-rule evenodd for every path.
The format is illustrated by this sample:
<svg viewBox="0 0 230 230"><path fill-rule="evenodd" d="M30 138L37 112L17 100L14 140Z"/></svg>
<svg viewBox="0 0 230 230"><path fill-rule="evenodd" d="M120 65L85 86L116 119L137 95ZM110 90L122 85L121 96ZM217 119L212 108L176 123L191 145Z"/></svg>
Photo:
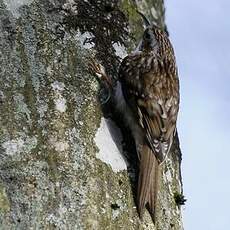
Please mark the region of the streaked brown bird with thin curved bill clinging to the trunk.
<svg viewBox="0 0 230 230"><path fill-rule="evenodd" d="M155 222L160 167L167 159L176 133L179 78L168 33L137 12L143 18L145 30L136 50L122 60L111 95L135 140L139 216L143 219L147 208ZM97 76L111 86L104 68L100 64L92 66Z"/></svg>

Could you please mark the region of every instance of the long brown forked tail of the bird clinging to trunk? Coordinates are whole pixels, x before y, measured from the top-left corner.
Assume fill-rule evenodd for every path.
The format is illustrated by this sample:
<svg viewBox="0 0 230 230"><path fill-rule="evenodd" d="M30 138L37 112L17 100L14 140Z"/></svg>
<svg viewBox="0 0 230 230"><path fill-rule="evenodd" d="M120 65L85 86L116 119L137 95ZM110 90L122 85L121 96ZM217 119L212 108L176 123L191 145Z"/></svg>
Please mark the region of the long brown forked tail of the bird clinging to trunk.
<svg viewBox="0 0 230 230"><path fill-rule="evenodd" d="M138 178L137 204L140 218L142 219L145 206L155 222L155 207L158 189L158 161L149 148L144 145L140 153L140 166Z"/></svg>

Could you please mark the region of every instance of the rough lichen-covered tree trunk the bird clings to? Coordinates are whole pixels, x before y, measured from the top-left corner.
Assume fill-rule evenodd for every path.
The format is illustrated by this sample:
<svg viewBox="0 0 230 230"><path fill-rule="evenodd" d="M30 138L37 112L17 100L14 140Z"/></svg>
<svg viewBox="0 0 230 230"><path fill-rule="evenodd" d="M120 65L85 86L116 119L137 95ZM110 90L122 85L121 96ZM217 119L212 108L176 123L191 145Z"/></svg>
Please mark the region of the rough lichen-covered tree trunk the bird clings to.
<svg viewBox="0 0 230 230"><path fill-rule="evenodd" d="M94 57L116 78L143 31L137 7L164 25L162 0L0 0L0 229L183 229L178 141L154 227L88 71Z"/></svg>

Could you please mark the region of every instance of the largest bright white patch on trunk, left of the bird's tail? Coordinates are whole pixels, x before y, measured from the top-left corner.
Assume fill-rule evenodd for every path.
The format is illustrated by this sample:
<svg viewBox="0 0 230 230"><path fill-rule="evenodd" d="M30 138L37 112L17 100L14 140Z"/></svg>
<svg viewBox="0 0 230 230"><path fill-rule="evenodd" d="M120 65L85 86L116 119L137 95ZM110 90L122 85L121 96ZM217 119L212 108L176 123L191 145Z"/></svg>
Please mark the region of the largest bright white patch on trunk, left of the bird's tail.
<svg viewBox="0 0 230 230"><path fill-rule="evenodd" d="M114 172L127 170L127 164L121 155L122 134L111 119L102 118L94 138L99 152L96 157L109 164Z"/></svg>

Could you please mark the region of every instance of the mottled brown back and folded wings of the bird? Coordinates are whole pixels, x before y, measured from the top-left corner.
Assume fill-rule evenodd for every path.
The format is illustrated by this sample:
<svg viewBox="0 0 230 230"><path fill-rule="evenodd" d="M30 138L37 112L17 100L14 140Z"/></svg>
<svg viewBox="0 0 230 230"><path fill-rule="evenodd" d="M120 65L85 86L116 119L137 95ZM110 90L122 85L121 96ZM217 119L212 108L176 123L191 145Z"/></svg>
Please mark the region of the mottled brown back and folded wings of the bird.
<svg viewBox="0 0 230 230"><path fill-rule="evenodd" d="M164 63L168 61L139 52L127 56L119 72L126 101L137 114L159 163L170 150L179 109L177 72L166 71Z"/></svg>

